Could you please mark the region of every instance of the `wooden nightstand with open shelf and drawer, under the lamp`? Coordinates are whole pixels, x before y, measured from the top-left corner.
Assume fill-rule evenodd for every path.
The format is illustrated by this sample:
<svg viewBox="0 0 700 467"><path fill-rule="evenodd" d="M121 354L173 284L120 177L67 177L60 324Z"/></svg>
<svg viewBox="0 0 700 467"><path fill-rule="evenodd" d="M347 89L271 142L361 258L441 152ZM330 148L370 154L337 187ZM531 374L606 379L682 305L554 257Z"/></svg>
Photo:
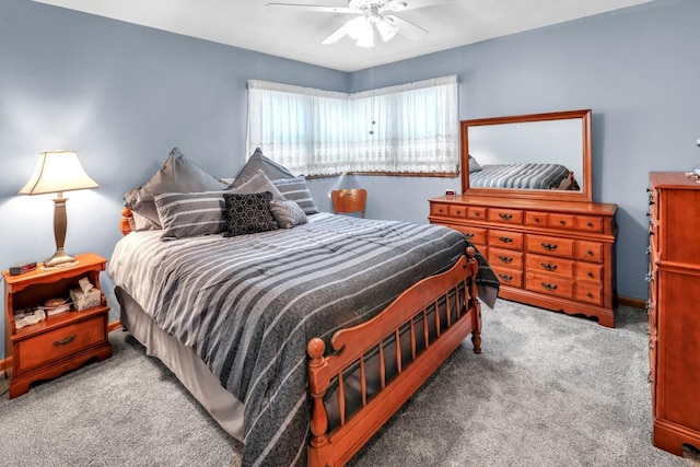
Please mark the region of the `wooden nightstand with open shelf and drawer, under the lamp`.
<svg viewBox="0 0 700 467"><path fill-rule="evenodd" d="M91 359L112 357L107 338L109 307L104 294L101 304L81 312L70 310L20 329L14 323L14 310L40 305L48 299L68 296L79 289L78 281L88 278L100 289L100 272L107 260L92 253L78 255L78 264L20 276L2 272L5 307L5 357L12 355L10 398L30 390L30 384L60 376Z"/></svg>

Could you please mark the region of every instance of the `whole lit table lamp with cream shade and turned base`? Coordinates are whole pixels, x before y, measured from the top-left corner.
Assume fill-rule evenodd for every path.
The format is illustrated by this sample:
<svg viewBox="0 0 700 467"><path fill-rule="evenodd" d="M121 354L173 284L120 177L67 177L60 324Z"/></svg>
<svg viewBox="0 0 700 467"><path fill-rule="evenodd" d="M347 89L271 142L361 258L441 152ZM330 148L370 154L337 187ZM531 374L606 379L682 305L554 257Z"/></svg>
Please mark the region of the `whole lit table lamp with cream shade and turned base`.
<svg viewBox="0 0 700 467"><path fill-rule="evenodd" d="M75 189L97 188L98 185L90 178L78 160L75 151L47 151L39 154L39 162L30 182L20 190L20 195L43 195L56 192L54 199L54 236L56 237L56 253L44 261L44 266L57 266L73 262L75 258L63 252L66 241L66 201L63 191Z"/></svg>

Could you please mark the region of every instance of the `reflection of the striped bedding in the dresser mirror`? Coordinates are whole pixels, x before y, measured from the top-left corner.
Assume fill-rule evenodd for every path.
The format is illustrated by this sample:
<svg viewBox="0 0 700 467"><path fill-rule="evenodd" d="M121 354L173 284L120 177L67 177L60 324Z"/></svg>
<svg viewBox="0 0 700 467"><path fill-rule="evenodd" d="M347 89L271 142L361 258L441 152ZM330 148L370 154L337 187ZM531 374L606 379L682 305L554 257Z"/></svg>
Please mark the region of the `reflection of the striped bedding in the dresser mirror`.
<svg viewBox="0 0 700 467"><path fill-rule="evenodd" d="M570 171L560 164L490 164L469 173L471 188L557 189Z"/></svg>

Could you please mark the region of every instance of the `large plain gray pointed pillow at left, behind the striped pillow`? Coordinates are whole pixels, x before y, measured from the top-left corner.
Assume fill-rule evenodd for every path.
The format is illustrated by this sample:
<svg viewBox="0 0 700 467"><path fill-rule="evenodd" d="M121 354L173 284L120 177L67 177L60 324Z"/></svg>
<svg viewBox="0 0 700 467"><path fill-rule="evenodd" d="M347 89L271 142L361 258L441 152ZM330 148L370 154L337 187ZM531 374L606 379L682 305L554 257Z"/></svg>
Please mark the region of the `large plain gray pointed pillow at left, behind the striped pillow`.
<svg viewBox="0 0 700 467"><path fill-rule="evenodd" d="M213 191L228 188L226 184L189 161L177 148L173 148L165 164L143 186L130 189L125 196L125 206L148 219L150 226L161 229L156 192ZM138 226L138 224L137 224Z"/></svg>

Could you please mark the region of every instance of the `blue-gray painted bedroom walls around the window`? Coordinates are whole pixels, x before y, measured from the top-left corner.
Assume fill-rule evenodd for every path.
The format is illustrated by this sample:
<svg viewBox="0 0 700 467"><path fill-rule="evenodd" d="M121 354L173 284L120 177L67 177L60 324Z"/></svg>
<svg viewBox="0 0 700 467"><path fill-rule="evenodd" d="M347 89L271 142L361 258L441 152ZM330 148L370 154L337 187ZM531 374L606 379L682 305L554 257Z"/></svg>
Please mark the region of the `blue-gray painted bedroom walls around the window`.
<svg viewBox="0 0 700 467"><path fill-rule="evenodd" d="M0 269L55 249L51 196L16 195L42 151L77 150L100 183L67 194L66 249L108 258L120 237L124 192L144 183L173 147L212 175L237 173L246 157L248 79L355 92L458 74L462 119L593 109L594 199L619 206L618 293L645 299L648 174L700 163L699 17L697 0L656 0L343 73L2 0ZM310 185L323 210L330 209L330 189L362 185L371 194L369 217L427 222L427 199L458 189L459 180L340 177ZM108 276L102 281L109 292ZM112 296L109 304L116 319Z"/></svg>

